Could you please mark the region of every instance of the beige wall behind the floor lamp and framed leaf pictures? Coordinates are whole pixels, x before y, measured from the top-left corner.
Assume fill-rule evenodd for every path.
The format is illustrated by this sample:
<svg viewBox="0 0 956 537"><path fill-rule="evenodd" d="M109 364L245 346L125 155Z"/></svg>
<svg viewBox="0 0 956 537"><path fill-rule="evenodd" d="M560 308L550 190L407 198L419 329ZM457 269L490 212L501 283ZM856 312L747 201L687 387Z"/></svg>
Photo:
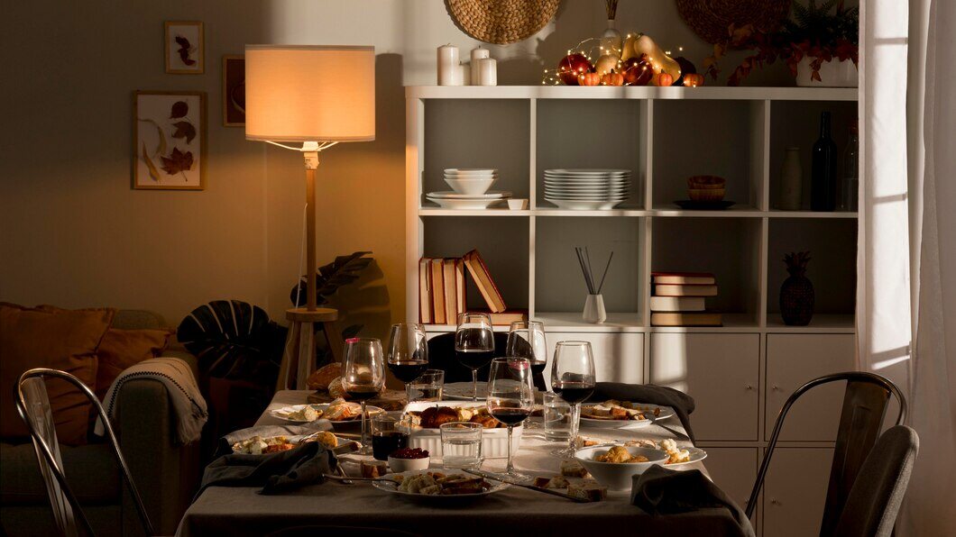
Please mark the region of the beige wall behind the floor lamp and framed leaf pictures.
<svg viewBox="0 0 956 537"><path fill-rule="evenodd" d="M552 66L604 18L603 2L564 0L538 35L489 47L500 83L538 83L538 56ZM205 22L206 74L163 73L163 20L176 19ZM475 45L444 2L31 0L8 3L4 20L0 300L148 308L176 324L206 301L238 298L281 319L298 270L302 164L222 126L221 58L246 43L372 44L378 138L323 153L318 256L374 251L392 318L402 317L402 86L434 83L438 45L463 56ZM621 2L619 28L684 46L698 64L708 53L669 0ZM754 82L781 75L777 66ZM205 191L130 189L136 89L206 91Z"/></svg>

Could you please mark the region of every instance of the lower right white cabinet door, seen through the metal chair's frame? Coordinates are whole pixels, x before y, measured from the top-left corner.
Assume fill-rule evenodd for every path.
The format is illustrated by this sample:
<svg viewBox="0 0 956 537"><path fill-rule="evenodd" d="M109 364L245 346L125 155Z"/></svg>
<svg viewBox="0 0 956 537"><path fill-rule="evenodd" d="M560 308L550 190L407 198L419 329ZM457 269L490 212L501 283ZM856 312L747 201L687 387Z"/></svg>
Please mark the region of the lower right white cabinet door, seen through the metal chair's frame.
<svg viewBox="0 0 956 537"><path fill-rule="evenodd" d="M819 534L833 458L831 448L776 448L764 482L764 535Z"/></svg>

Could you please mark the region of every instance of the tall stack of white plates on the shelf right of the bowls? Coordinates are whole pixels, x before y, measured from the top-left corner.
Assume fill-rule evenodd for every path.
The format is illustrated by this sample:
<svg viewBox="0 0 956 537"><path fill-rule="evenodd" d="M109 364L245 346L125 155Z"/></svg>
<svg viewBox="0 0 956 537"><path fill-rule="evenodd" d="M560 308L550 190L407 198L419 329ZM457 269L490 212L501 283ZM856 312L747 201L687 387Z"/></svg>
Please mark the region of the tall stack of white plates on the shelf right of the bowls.
<svg viewBox="0 0 956 537"><path fill-rule="evenodd" d="M631 170L544 171L544 199L565 209L610 209L630 197Z"/></svg>

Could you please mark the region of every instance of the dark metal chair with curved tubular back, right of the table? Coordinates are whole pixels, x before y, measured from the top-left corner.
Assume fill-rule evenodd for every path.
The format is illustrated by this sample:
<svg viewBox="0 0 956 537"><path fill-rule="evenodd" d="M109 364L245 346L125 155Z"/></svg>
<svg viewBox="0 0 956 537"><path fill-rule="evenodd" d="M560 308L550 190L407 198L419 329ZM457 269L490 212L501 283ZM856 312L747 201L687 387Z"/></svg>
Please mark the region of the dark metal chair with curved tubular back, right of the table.
<svg viewBox="0 0 956 537"><path fill-rule="evenodd" d="M780 436L780 430L783 428L787 413L790 412L790 407L796 399L816 386L842 380L846 381L846 391L843 396L843 410L840 413L839 429L836 433L834 462L830 469L830 484L820 526L821 536L834 535L836 523L843 512L843 506L846 505L859 469L880 436L880 428L891 394L900 401L900 415L897 417L896 424L900 425L906 418L906 398L902 396L900 388L884 376L865 372L820 376L800 386L787 398L773 425L771 440L767 444L760 471L757 472L756 483L753 483L753 490L750 491L750 500L745 511L748 518L753 516L753 510L757 506L757 496L767 476L773 449L776 447L777 438Z"/></svg>

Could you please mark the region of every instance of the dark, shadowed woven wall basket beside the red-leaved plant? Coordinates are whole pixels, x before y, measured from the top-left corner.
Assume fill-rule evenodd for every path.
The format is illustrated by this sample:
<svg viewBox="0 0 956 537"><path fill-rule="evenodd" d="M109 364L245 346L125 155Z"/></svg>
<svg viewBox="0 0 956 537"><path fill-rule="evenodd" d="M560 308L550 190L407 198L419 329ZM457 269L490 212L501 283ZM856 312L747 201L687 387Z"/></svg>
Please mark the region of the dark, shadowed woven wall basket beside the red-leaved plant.
<svg viewBox="0 0 956 537"><path fill-rule="evenodd" d="M791 0L677 0L677 11L687 26L707 43L728 39L728 27L753 24L775 29L790 12Z"/></svg>

